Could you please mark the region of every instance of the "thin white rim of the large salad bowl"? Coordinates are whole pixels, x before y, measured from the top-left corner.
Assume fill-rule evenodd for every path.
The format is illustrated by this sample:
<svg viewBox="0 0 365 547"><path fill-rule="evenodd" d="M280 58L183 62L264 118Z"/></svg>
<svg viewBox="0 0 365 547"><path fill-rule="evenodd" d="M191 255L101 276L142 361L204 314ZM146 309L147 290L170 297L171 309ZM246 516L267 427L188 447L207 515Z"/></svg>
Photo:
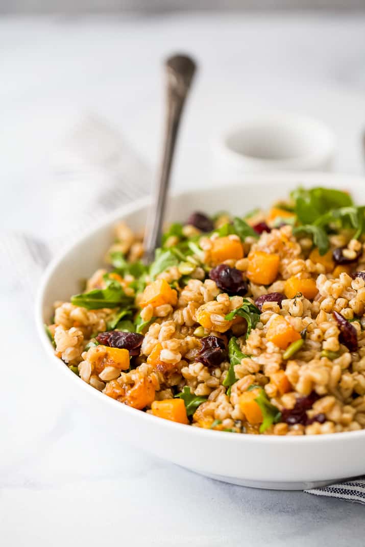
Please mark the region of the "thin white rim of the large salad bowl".
<svg viewBox="0 0 365 547"><path fill-rule="evenodd" d="M365 177L359 176L357 174L355 175L346 175L342 173L324 173L324 172L291 172L291 173L275 173L275 174L252 174L247 175L245 177L240 177L240 182L234 181L233 183L224 183L224 188L227 190L227 187L242 187L247 186L250 184L254 184L256 182L260 183L270 183L274 182L277 185L284 185L288 183L298 184L298 178L303 179L302 182L305 184L310 184L311 182L317 182L317 184L322 184L324 181L328 182L335 182L337 181L338 184L347 184L351 183L351 188L354 186L358 187L360 185L364 185L365 183ZM310 179L313 179L311 181ZM209 190L217 190L220 187L222 187L222 184L211 184L210 186L205 187L202 189L203 191L209 191ZM200 191L202 191L199 187L198 188L190 188L188 190L183 191L172 191L171 193L171 199L177 199L178 197L183 196L189 196L191 194L196 194ZM83 240L86 237L89 237L102 228L107 228L108 226L111 226L115 221L123 219L124 216L135 213L138 210L140 210L142 207L145 207L148 205L150 201L149 197L143 197L141 199L138 199L136 201L133 201L131 203L127 203L126 205L123 205L119 207L117 210L106 214L103 216L102 219L99 220L94 226L92 226L92 229L85 229L81 234L79 234L78 237L74 238L67 246L60 249L60 251L55 255L55 257L50 261L49 265L45 269L42 279L40 280L38 291L36 295L36 300L34 304L34 315L37 325L37 331L40 340L42 341L42 345L44 348L45 353L49 357L50 360L55 364L57 367L57 370L60 371L63 375L68 375L68 378L72 382L79 382L79 387L85 391L85 393L89 393L91 397L96 397L100 401L104 401L107 405L112 405L115 409L119 409L119 412L126 412L127 415L132 412L132 415L135 416L135 418L138 419L138 415L140 416L141 420L149 420L150 421L150 427L162 427L166 429L166 432L169 432L169 430L178 431L181 430L181 434L185 435L191 435L192 440L195 438L210 438L210 440L216 439L217 441L221 442L224 439L227 439L227 442L229 443L253 443L253 444L270 444L270 445L296 445L299 444L310 444L310 445L318 445L322 443L339 443L346 440L355 440L355 438L360 438L365 436L365 429L360 429L357 431L350 431L350 432L341 432L341 433L325 433L321 435L256 435L256 434L236 434L236 435L227 435L227 432L223 431L217 431L213 429L204 429L200 427L192 427L192 426L186 426L185 424L172 422L170 420L163 420L161 418L158 418L157 416L153 416L152 414L147 414L147 412L143 412L141 410L137 410L134 408L131 408L128 405L124 405L119 403L117 400L112 399L111 397L107 397L107 395L101 393L99 390L95 389L94 387L90 386L88 383L82 381L76 374L72 372L67 366L65 366L65 363L61 359L55 356L53 352L53 347L51 346L49 342L49 338L47 334L45 333L44 329L44 321L43 321L43 300L44 300L44 294L45 289L48 286L49 281L51 280L55 270L57 267L59 267L59 264L62 262L62 260L65 258L65 256L71 252L73 247L76 247L80 245ZM66 376L65 376L66 377ZM76 388L76 385L75 385ZM111 407L111 408L112 408ZM118 411L118 410L117 410ZM136 414L138 413L138 414ZM176 429L178 428L178 429ZM223 437L224 435L224 437Z"/></svg>

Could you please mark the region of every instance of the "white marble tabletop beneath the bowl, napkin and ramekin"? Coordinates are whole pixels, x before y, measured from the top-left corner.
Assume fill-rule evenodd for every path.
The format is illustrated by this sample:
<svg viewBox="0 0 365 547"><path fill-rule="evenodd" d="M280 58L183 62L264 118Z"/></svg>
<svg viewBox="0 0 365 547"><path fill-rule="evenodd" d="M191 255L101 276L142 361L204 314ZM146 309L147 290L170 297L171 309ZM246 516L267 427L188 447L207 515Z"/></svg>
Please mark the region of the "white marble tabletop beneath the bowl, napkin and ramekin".
<svg viewBox="0 0 365 547"><path fill-rule="evenodd" d="M325 120L339 141L335 168L361 173L364 31L365 16L345 15L0 20L1 228L65 234L55 158L86 113L114 123L156 163L159 66L170 50L186 49L201 63L176 185L205 184L214 176L213 135L268 108ZM51 383L27 295L5 287L2 545L363 545L361 505L221 484L128 446L120 457L113 439Z"/></svg>

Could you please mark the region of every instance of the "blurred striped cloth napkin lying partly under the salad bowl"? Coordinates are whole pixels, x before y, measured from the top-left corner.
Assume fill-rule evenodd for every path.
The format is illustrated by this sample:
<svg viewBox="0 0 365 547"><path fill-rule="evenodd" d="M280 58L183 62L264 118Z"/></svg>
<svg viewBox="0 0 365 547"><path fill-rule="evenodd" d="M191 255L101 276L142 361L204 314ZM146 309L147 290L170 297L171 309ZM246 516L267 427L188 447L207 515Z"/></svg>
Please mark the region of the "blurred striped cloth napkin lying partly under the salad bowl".
<svg viewBox="0 0 365 547"><path fill-rule="evenodd" d="M55 218L58 218L57 232L60 235L47 242L14 233L0 238L0 255L4 260L2 271L5 271L3 280L12 283L6 289L20 289L31 300L44 267L68 235L72 237L79 229L91 225L94 219L148 194L152 180L148 166L130 149L118 131L96 117L83 119L65 139L55 159L55 176L57 172L64 178L63 183L57 185L60 190ZM70 207L69 195L72 195L77 210ZM85 195L88 197L86 200ZM66 217L60 217L62 200L68 204ZM66 226L66 232L62 233L59 226ZM7 270L9 275L6 275ZM365 504L365 478L305 492Z"/></svg>

